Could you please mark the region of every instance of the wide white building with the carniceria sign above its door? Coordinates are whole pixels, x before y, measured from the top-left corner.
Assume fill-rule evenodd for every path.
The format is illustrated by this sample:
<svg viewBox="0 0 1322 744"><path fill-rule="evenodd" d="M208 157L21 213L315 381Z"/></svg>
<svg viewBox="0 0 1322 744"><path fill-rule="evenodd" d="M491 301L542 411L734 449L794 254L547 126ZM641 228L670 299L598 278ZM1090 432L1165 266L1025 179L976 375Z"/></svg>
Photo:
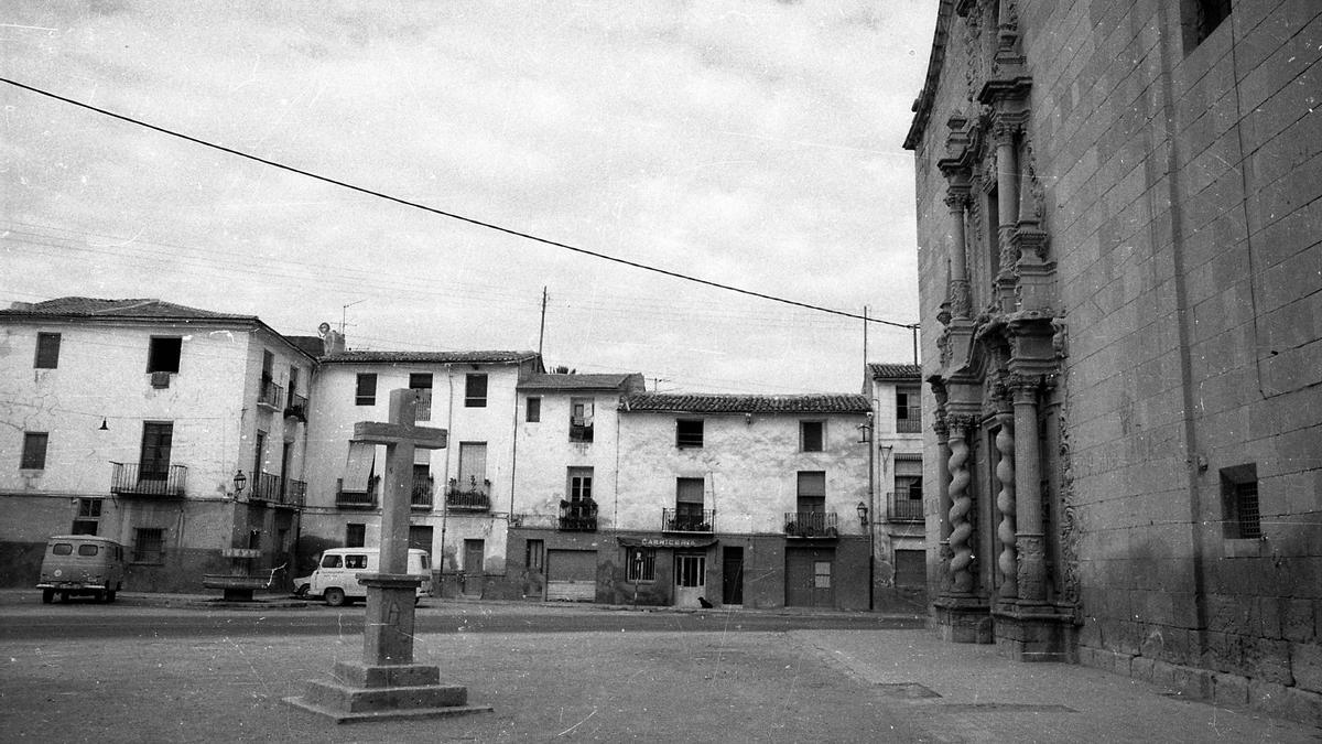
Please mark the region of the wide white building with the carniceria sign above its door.
<svg viewBox="0 0 1322 744"><path fill-rule="evenodd" d="M867 609L869 412L862 395L625 397L599 598Z"/></svg>

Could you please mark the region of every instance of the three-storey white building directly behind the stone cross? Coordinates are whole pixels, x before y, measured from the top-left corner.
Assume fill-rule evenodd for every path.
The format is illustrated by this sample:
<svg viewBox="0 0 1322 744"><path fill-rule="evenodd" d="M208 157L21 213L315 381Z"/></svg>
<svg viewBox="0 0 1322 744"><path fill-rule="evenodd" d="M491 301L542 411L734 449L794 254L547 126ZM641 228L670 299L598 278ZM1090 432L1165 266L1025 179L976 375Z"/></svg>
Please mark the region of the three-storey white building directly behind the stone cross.
<svg viewBox="0 0 1322 744"><path fill-rule="evenodd" d="M410 545L438 556L459 590L483 593L505 573L514 486L518 383L542 371L524 351L345 351L323 356L313 379L308 499L301 555L377 545L385 447L353 438L358 421L386 421L390 391L420 391L418 424L446 429L448 446L418 450ZM448 589L447 589L448 590Z"/></svg>

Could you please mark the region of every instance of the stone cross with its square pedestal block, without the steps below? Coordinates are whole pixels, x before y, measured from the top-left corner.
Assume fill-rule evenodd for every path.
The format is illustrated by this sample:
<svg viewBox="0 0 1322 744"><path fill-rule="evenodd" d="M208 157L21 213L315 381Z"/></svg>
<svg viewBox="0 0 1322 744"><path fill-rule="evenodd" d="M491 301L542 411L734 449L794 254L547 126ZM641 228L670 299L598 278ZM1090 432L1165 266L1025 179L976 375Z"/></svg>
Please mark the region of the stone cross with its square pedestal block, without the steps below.
<svg viewBox="0 0 1322 744"><path fill-rule="evenodd" d="M408 575L408 512L414 451L444 449L447 432L415 426L418 392L390 392L390 421L360 421L354 442L386 445L386 478L381 498L378 573L361 575L368 588L362 662L366 666L412 663L414 597L423 576Z"/></svg>

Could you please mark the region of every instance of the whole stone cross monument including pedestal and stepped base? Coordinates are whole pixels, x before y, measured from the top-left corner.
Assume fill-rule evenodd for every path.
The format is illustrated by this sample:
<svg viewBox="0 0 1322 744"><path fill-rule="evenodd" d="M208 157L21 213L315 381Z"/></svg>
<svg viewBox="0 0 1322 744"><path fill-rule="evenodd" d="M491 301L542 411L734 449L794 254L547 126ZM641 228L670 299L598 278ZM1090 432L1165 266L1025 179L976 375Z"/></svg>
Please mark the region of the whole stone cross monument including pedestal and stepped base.
<svg viewBox="0 0 1322 744"><path fill-rule="evenodd" d="M440 684L440 669L414 663L414 601L426 576L408 573L408 492L415 449L443 449L447 432L414 425L415 391L390 392L390 422L362 421L354 442L386 445L381 503L378 573L358 582L368 588L362 663L336 662L332 680L309 682L303 698L286 703L336 723L436 718L490 711L468 704L468 688Z"/></svg>

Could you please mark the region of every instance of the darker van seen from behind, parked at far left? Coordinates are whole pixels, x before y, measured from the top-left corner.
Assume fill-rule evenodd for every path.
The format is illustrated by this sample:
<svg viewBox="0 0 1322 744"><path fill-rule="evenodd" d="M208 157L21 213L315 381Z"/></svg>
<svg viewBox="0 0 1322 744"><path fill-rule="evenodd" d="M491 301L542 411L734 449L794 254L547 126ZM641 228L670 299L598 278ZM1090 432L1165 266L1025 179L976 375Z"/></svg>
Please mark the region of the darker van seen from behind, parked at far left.
<svg viewBox="0 0 1322 744"><path fill-rule="evenodd" d="M95 535L56 535L46 541L41 557L41 601L59 594L66 602L73 594L91 594L98 602L114 602L124 586L124 547Z"/></svg>

